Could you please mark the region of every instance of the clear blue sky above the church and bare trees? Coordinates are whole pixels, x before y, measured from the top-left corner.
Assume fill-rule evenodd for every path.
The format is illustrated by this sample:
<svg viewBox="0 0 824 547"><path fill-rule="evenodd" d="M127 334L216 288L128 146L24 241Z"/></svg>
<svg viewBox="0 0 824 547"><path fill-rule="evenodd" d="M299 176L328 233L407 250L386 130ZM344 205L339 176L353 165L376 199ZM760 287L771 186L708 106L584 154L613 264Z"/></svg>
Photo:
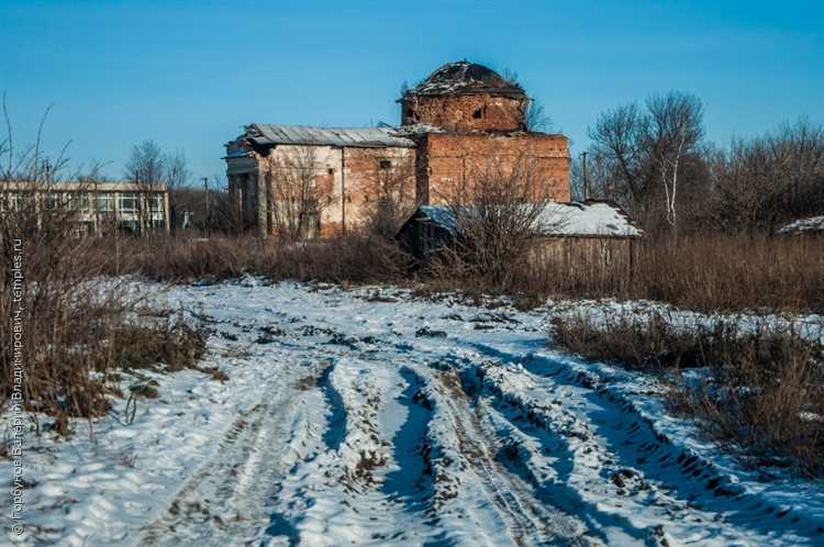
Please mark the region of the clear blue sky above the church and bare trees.
<svg viewBox="0 0 824 547"><path fill-rule="evenodd" d="M823 5L0 0L0 91L18 142L54 103L47 149L114 177L146 138L212 177L246 123L398 123L403 80L464 58L517 72L574 154L603 110L671 89L725 145L824 123Z"/></svg>

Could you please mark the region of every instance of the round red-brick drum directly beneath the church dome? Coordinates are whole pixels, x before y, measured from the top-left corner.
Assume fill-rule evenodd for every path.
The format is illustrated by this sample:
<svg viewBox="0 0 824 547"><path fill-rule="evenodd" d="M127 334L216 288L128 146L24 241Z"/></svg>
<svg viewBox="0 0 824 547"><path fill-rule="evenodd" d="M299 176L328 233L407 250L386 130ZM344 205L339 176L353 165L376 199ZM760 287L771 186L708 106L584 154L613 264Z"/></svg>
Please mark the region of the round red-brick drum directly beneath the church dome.
<svg viewBox="0 0 824 547"><path fill-rule="evenodd" d="M447 131L519 131L524 129L526 99L486 94L409 96L401 123L426 123Z"/></svg>

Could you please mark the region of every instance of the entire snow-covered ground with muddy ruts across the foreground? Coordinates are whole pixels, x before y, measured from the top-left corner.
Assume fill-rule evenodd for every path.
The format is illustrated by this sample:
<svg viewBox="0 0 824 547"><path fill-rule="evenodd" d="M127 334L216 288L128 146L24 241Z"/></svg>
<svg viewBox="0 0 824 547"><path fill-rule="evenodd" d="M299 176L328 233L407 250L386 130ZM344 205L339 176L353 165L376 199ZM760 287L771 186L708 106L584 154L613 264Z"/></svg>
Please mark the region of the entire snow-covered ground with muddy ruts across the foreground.
<svg viewBox="0 0 824 547"><path fill-rule="evenodd" d="M824 544L821 483L743 469L654 380L547 348L542 313L255 279L165 298L230 380L155 375L131 424L118 401L93 440L29 435L26 534L0 542Z"/></svg>

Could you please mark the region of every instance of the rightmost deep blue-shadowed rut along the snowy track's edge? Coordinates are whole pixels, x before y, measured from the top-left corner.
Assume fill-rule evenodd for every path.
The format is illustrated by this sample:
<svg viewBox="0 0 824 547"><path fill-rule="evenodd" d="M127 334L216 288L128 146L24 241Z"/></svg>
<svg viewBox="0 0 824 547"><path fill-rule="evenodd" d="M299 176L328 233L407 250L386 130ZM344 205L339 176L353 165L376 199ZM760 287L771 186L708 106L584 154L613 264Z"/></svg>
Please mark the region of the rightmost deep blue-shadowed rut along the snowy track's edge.
<svg viewBox="0 0 824 547"><path fill-rule="evenodd" d="M730 542L742 535L750 537L749 540L776 539L783 534L777 524L786 523L794 525L794 534L802 538L824 536L814 523L803 523L789 509L776 507L761 501L758 494L747 493L700 454L673 446L648 418L638 414L630 399L612 391L609 383L594 375L568 370L564 364L545 357L524 358L486 344L472 347L503 364L500 370L523 367L522 373L528 375L538 389L556 393L558 388L564 390L568 397L565 406L575 404L574 410L563 408L547 413L546 405L524 401L520 394L509 397L508 401L527 414L537 414L538 422L549 428L584 432L586 438L575 443L574 453L587 450L606 462L603 469L617 487L615 495L623 498L617 503L626 505L639 493L622 485L626 478L630 482L641 481L636 487L641 485L643 493L654 494L652 511L659 513L659 526L678 529L682 522L703 523L706 537L727 537ZM506 397L502 391L499 394ZM545 417L541 418L541 414ZM650 511L649 500L645 505ZM691 534L688 543L695 540L701 539Z"/></svg>

